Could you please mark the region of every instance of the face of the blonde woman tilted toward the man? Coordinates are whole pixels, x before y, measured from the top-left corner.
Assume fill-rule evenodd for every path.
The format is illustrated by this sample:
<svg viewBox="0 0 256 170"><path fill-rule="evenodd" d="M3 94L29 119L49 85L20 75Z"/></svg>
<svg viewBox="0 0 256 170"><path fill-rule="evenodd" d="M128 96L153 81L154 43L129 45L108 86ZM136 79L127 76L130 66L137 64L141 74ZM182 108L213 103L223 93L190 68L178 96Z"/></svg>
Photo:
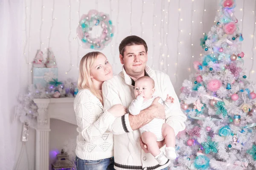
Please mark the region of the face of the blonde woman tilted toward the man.
<svg viewBox="0 0 256 170"><path fill-rule="evenodd" d="M105 82L113 77L112 66L104 55L97 56L90 69L90 77L98 82Z"/></svg>

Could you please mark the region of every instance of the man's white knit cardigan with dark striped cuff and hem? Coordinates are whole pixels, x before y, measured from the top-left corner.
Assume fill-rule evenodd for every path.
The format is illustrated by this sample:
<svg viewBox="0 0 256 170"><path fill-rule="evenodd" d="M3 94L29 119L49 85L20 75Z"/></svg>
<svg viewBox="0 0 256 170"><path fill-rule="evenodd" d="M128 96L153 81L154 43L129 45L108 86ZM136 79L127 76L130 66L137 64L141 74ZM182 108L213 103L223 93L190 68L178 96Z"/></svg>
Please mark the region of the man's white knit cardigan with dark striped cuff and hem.
<svg viewBox="0 0 256 170"><path fill-rule="evenodd" d="M154 79L155 93L162 99L167 94L175 101L172 113L166 113L166 123L174 130L175 135L185 129L186 116L180 110L180 103L167 74L145 68L145 75ZM129 107L134 97L134 80L126 74L124 67L122 71L102 85L104 111L113 105L122 104ZM132 130L128 118L129 114L116 118L109 131L114 134L114 168L116 170L161 170L168 166L159 165L150 153L144 153L140 147L140 131ZM164 151L164 147L160 149Z"/></svg>

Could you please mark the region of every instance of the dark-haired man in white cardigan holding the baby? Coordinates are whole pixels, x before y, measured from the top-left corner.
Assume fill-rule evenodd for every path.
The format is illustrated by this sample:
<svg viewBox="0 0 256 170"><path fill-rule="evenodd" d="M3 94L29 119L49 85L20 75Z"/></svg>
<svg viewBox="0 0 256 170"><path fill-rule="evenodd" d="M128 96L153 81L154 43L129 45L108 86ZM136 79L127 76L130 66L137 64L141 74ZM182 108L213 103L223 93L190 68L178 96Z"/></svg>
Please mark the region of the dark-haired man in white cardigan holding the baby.
<svg viewBox="0 0 256 170"><path fill-rule="evenodd" d="M123 64L122 71L102 85L104 110L113 105L121 104L129 107L134 99L135 81L143 76L149 76L155 82L155 95L163 100L167 94L172 96L174 105L172 113L165 113L164 106L158 103L156 98L152 105L140 114L133 116L125 114L116 118L108 127L114 134L114 168L116 170L167 170L170 161L159 165L140 139L140 127L154 118L166 119L166 123L175 130L175 135L185 129L186 116L180 110L180 103L167 74L151 70L146 65L148 61L148 47L146 42L137 36L129 36L119 45L119 58ZM158 142L161 151L164 151L162 142ZM165 169L164 169L165 168Z"/></svg>

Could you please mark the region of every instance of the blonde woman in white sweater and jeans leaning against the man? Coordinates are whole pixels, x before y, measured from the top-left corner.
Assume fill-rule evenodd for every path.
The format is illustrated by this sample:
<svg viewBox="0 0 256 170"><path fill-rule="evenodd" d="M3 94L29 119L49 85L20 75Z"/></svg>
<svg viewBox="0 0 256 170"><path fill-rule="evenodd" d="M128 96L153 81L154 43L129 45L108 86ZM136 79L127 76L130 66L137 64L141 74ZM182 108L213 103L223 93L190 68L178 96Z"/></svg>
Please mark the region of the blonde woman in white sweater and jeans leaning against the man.
<svg viewBox="0 0 256 170"><path fill-rule="evenodd" d="M78 88L74 101L77 131L77 170L114 170L113 134L108 127L126 113L122 105L103 112L102 83L113 77L104 54L90 52L80 62Z"/></svg>

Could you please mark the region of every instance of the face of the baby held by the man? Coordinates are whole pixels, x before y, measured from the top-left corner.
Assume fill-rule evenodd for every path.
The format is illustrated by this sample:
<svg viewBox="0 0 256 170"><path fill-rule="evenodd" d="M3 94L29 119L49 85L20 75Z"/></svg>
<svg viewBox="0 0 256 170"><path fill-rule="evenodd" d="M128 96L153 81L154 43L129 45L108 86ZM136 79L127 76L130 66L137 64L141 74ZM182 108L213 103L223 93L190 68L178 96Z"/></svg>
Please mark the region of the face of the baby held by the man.
<svg viewBox="0 0 256 170"><path fill-rule="evenodd" d="M148 99L152 98L152 95L154 94L154 87L149 80L139 80L135 82L134 87L134 95L135 98L137 96L143 96L144 101L147 101Z"/></svg>

